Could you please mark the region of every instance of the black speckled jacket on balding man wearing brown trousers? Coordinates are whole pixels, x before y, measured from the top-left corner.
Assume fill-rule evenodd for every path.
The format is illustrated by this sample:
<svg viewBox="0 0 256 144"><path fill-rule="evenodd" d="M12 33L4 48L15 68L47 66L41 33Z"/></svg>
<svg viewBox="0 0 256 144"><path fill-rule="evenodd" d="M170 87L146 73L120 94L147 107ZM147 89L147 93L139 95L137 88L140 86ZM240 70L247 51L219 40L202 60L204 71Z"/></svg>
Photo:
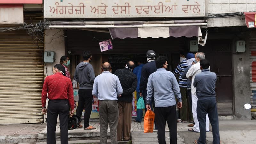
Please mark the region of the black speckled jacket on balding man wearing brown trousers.
<svg viewBox="0 0 256 144"><path fill-rule="evenodd" d="M129 68L117 69L115 75L118 76L123 88L123 94L118 97L118 101L132 102L132 93L137 87L137 76Z"/></svg>

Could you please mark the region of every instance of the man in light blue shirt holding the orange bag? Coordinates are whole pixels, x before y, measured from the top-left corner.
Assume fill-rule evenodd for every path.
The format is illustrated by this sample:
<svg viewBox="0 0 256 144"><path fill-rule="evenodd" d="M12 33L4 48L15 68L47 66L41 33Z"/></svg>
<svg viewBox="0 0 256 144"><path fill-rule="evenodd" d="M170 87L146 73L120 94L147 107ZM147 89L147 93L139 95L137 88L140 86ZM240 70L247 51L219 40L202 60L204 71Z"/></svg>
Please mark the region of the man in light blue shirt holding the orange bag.
<svg viewBox="0 0 256 144"><path fill-rule="evenodd" d="M146 108L151 110L150 102L154 94L158 143L166 143L165 125L167 121L170 130L170 143L177 144L176 99L178 100L178 108L182 107L182 102L179 84L174 74L166 70L168 67L167 61L168 59L165 56L159 56L156 59L157 71L152 73L148 78Z"/></svg>

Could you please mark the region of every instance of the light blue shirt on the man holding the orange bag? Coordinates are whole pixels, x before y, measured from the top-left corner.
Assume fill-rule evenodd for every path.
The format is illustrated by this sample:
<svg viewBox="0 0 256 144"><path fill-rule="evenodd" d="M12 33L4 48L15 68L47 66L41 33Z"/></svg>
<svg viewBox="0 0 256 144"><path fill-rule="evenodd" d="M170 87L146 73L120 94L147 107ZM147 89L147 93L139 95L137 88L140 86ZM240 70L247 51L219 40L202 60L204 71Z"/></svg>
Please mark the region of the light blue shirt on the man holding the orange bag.
<svg viewBox="0 0 256 144"><path fill-rule="evenodd" d="M178 102L181 102L179 84L174 74L164 68L158 68L148 78L147 104L150 103L153 94L156 107L176 105L175 95Z"/></svg>

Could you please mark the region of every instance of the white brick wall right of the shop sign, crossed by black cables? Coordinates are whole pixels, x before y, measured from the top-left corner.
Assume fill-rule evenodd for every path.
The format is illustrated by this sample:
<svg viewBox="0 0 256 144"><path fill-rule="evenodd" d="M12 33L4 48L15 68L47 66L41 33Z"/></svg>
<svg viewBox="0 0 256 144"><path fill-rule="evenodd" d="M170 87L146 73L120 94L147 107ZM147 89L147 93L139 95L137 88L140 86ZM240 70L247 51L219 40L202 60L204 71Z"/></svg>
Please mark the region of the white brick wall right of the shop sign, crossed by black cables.
<svg viewBox="0 0 256 144"><path fill-rule="evenodd" d="M256 11L256 0L209 0L208 13ZM208 27L245 26L244 16L210 18Z"/></svg>

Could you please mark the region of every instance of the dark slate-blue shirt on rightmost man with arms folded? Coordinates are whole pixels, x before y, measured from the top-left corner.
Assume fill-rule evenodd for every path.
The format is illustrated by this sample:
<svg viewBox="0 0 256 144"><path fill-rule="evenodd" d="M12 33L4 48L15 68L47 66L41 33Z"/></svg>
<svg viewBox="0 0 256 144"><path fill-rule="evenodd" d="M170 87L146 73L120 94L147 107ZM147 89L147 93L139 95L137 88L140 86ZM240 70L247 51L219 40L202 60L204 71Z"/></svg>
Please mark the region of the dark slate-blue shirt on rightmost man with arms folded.
<svg viewBox="0 0 256 144"><path fill-rule="evenodd" d="M215 73L210 72L209 69L203 69L201 73L196 74L194 79L194 87L196 87L196 96L198 100L215 97L215 84L217 76Z"/></svg>

